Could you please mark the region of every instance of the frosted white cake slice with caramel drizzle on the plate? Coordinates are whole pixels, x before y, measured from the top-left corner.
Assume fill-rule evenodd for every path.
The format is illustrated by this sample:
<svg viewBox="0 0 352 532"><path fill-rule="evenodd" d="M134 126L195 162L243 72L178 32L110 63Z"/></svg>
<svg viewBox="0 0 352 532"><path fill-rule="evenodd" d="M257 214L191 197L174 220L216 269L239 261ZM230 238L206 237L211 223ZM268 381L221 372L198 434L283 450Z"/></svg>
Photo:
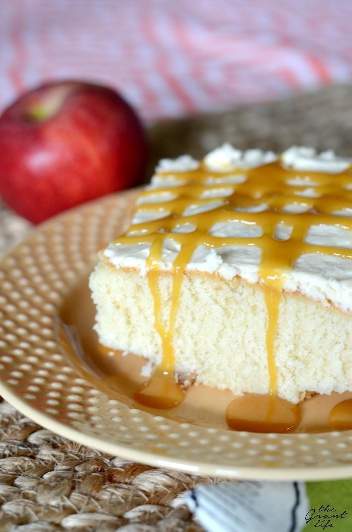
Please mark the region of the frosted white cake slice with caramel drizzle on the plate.
<svg viewBox="0 0 352 532"><path fill-rule="evenodd" d="M228 144L162 160L91 274L99 342L237 395L352 390L350 164Z"/></svg>

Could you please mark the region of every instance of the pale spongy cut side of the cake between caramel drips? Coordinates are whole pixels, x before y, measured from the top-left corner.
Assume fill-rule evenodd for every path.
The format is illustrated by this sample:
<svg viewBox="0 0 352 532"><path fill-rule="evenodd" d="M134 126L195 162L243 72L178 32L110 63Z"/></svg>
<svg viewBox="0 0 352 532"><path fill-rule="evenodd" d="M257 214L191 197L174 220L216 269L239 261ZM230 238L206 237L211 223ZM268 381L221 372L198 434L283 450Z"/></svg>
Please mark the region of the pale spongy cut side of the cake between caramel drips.
<svg viewBox="0 0 352 532"><path fill-rule="evenodd" d="M158 288L162 321L170 317L172 276ZM162 359L153 298L145 276L116 269L104 257L90 277L97 306L95 329L113 349ZM267 393L267 312L261 287L240 278L186 272L173 340L175 369L198 383L234 394ZM344 392L352 382L351 321L339 310L284 293L275 335L279 396L298 402L306 390Z"/></svg>

